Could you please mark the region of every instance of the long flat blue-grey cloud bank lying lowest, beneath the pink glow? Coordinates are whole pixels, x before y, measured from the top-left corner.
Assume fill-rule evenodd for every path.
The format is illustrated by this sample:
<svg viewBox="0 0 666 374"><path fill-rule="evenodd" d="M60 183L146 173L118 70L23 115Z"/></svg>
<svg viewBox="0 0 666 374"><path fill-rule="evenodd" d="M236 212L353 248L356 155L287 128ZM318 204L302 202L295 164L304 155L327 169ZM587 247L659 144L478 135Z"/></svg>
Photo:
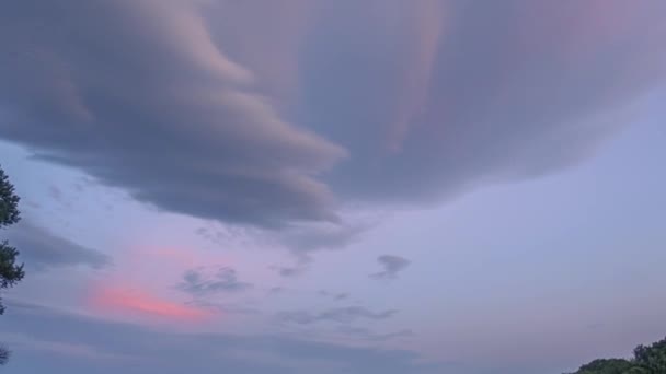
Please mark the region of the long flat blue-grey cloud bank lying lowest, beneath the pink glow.
<svg viewBox="0 0 666 374"><path fill-rule="evenodd" d="M22 339L21 354L12 360L18 373L49 365L100 374L213 374L220 367L246 374L306 374L312 370L322 374L441 372L438 365L405 350L346 347L285 336L173 332L26 304L12 304L3 318L3 334L30 337ZM45 344L38 342L48 342L47 348L54 348L49 349L51 354L45 354ZM60 354L61 348L85 354ZM114 360L116 357L124 359ZM127 359L133 359L131 365L127 365ZM41 364L44 367L35 366ZM77 370L69 370L72 367Z"/></svg>

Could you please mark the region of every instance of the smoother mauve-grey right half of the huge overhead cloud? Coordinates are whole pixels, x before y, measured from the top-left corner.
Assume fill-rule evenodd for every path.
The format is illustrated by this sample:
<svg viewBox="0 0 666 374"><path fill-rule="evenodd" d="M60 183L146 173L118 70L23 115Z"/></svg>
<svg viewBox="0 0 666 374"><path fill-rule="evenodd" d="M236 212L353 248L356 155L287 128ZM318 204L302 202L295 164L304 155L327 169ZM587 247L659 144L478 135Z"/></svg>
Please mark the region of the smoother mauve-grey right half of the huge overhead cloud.
<svg viewBox="0 0 666 374"><path fill-rule="evenodd" d="M306 122L352 155L324 179L355 201L429 206L576 164L666 78L664 3L355 3L326 2L301 59Z"/></svg>

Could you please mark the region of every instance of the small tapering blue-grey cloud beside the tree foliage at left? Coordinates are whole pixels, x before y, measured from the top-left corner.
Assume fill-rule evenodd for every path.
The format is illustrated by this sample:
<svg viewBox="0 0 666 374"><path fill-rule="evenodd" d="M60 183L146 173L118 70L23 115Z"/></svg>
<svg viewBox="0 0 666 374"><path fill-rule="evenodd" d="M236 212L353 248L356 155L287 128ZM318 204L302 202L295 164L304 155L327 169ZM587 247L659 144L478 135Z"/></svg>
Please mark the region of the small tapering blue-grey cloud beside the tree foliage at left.
<svg viewBox="0 0 666 374"><path fill-rule="evenodd" d="M102 269L111 266L105 254L85 248L23 219L7 231L10 244L19 249L27 267L37 269L87 266Z"/></svg>

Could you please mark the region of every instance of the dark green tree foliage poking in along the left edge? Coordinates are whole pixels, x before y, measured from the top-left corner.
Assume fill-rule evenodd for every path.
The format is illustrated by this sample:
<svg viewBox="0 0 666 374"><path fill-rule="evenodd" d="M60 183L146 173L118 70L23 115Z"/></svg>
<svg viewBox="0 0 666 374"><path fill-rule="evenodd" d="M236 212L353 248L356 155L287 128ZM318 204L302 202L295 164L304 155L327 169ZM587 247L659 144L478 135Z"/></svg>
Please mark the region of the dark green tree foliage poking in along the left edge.
<svg viewBox="0 0 666 374"><path fill-rule="evenodd" d="M14 186L0 167L0 229L4 229L21 220L19 201L21 199L14 194ZM7 241L0 243L0 291L11 288L23 279L23 264L18 264L19 250L9 245ZM2 297L0 297L0 315L4 313ZM0 346L0 365L9 360L10 351Z"/></svg>

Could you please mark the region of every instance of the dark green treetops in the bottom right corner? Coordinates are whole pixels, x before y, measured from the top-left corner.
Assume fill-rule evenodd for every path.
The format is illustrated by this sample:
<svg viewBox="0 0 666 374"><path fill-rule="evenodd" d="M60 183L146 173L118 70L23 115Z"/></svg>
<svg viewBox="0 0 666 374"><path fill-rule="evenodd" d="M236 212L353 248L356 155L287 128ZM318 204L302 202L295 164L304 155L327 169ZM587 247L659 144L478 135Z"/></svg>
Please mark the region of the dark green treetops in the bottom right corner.
<svg viewBox="0 0 666 374"><path fill-rule="evenodd" d="M631 360L595 360L572 374L666 374L666 338L636 347Z"/></svg>

